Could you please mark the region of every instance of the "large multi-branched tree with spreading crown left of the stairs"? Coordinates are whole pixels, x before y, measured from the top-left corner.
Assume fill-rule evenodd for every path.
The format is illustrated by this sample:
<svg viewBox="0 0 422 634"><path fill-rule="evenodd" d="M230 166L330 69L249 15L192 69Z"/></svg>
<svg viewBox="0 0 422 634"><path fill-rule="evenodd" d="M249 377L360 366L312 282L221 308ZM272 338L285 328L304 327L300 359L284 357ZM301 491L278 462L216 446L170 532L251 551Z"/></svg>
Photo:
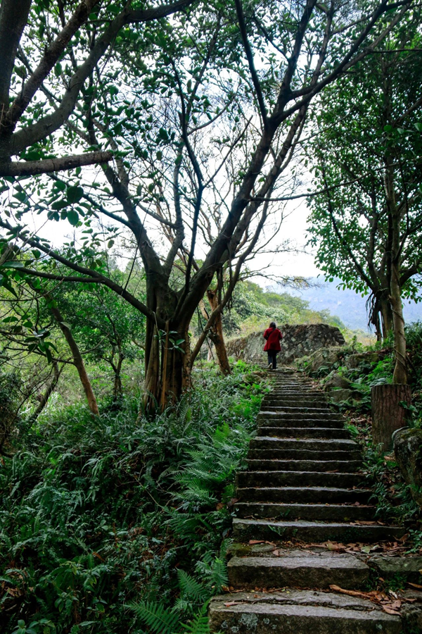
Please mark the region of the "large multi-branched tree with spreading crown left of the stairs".
<svg viewBox="0 0 422 634"><path fill-rule="evenodd" d="M146 316L146 391L153 402L177 398L200 346L191 355L193 313L224 266L234 273L205 330L229 301L283 184L309 104L375 51L411 6L411 0L394 6L307 0L285 7L269 0L244 10L234 0L120 30L110 63L93 64L84 75L58 139L96 151L111 147L115 164L101 166L106 184L85 170L31 182L32 189L15 182L8 195L18 197L18 211L0 224L11 240L40 254L36 266L23 261L21 274L101 284L120 294ZM94 28L79 55L89 57L100 41ZM60 65L58 75L68 83L72 55ZM53 91L54 82L44 88ZM99 230L85 241L79 232L59 252L23 225L30 210L81 231ZM96 260L101 245L119 237L141 258L145 303ZM56 273L43 271L43 257L56 261ZM181 285L172 283L177 261Z"/></svg>

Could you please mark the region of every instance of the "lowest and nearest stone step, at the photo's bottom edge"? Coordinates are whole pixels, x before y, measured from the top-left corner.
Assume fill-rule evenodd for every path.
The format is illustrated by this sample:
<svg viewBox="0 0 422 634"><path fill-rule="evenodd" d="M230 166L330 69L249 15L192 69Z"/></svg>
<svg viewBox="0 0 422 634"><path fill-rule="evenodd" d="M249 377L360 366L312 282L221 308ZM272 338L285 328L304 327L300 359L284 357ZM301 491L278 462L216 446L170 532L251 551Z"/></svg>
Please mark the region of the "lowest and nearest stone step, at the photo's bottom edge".
<svg viewBox="0 0 422 634"><path fill-rule="evenodd" d="M402 619L381 607L333 592L236 592L211 599L211 633L401 634Z"/></svg>

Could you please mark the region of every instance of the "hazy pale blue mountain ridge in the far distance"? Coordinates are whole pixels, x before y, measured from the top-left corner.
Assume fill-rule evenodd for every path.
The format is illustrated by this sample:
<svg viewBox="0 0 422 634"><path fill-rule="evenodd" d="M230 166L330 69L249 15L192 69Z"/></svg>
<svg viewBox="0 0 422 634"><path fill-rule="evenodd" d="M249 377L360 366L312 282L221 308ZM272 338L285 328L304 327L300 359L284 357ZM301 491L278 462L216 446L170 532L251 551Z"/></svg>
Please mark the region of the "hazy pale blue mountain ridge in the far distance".
<svg viewBox="0 0 422 634"><path fill-rule="evenodd" d="M339 290L337 286L341 280L333 282L323 281L324 278L310 278L310 281L320 284L320 287L307 289L286 289L279 287L280 292L288 292L290 295L301 297L309 302L309 308L313 311L330 311L331 315L337 316L343 321L347 328L352 330L369 330L368 317L366 314L366 300L368 297L361 297L353 290ZM405 301L403 304L404 319L407 323L422 321L422 302L416 304Z"/></svg>

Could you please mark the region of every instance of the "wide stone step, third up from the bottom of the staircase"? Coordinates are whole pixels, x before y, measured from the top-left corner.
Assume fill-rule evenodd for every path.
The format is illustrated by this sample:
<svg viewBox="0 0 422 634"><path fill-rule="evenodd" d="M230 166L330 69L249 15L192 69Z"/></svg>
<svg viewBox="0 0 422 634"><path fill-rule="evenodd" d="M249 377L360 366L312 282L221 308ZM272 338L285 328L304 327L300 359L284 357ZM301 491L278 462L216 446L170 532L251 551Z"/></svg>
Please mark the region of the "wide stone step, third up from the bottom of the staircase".
<svg viewBox="0 0 422 634"><path fill-rule="evenodd" d="M380 526L379 524L352 524L345 522L317 521L274 521L266 519L233 520L233 536L239 542L249 540L303 542L350 542L371 543L392 541L402 537L404 528L399 526Z"/></svg>

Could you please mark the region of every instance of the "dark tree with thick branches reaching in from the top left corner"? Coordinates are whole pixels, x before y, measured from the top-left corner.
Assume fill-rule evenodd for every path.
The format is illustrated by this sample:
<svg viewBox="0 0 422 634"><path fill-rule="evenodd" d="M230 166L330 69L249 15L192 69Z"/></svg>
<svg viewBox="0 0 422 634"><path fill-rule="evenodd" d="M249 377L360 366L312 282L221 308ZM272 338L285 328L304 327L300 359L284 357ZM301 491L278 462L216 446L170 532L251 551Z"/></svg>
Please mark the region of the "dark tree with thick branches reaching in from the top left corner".
<svg viewBox="0 0 422 634"><path fill-rule="evenodd" d="M37 0L1 0L0 176L51 173L110 161L110 151L51 156L50 135L68 121L84 82L125 25L158 20L192 2L132 9L124 2L110 8L102 0L66 7L61 1L56 6ZM84 42L88 46L81 46ZM69 62L66 82L61 82L63 60ZM46 82L53 83L54 92ZM39 101L40 92L44 101ZM12 156L25 161L11 161Z"/></svg>

